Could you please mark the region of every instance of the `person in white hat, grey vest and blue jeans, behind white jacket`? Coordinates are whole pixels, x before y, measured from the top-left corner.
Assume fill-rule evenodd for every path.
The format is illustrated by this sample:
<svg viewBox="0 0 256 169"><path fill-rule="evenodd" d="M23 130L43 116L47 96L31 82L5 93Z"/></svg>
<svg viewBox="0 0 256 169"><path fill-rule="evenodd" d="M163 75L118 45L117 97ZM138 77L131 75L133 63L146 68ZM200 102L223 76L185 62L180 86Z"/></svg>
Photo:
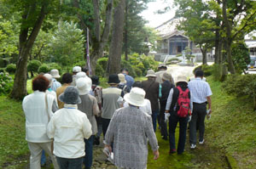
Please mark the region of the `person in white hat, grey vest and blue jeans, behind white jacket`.
<svg viewBox="0 0 256 169"><path fill-rule="evenodd" d="M84 112L87 115L87 118L91 124L92 135L88 139L84 139L85 142L85 156L84 156L84 166L85 169L90 169L92 165L92 157L93 157L93 143L94 137L97 133L97 124L96 124L96 116L99 115L99 107L97 104L97 100L94 96L90 95L91 83L86 78L79 78L76 82L77 88L79 89L79 97L81 99L81 103L78 104L79 110Z"/></svg>

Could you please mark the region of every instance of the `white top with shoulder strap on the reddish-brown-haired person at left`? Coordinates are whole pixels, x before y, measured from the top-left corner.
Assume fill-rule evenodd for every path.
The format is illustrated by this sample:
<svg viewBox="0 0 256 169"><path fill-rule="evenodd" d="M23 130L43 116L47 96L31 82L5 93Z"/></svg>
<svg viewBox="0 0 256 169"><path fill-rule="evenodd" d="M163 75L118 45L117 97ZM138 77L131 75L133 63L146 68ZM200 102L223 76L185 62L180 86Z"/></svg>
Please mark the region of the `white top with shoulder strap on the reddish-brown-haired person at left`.
<svg viewBox="0 0 256 169"><path fill-rule="evenodd" d="M46 127L49 117L52 116L52 104L54 97L47 95L48 112L46 111L45 93L35 91L27 95L22 102L22 108L26 115L26 141L32 143L48 143L51 140L47 137Z"/></svg>

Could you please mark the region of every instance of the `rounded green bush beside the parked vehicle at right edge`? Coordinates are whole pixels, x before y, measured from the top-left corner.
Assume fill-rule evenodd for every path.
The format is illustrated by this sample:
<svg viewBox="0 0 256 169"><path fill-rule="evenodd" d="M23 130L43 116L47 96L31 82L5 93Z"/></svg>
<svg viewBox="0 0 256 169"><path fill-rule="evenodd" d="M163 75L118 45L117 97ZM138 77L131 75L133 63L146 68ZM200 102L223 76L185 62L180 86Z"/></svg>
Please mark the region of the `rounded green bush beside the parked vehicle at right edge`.
<svg viewBox="0 0 256 169"><path fill-rule="evenodd" d="M234 62L236 73L241 74L250 64L249 50L244 43L234 43L232 45L232 60Z"/></svg>

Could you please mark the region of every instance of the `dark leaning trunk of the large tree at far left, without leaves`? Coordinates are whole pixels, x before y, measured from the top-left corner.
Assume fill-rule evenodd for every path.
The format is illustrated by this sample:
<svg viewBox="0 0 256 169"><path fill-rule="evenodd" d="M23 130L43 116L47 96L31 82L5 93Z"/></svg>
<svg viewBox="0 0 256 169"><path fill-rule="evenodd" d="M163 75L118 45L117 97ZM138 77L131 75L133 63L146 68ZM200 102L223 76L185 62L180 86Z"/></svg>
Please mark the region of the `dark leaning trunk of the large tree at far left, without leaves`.
<svg viewBox="0 0 256 169"><path fill-rule="evenodd" d="M45 17L45 10L48 3L44 3L41 7L41 12L38 14L38 20L32 27L32 31L28 37L28 27L26 26L26 21L23 20L20 28L20 40L19 40L19 59L17 61L17 69L15 72L15 82L14 87L11 92L11 98L13 99L23 99L26 96L26 80L27 80L27 59L29 57L29 51L32 48L33 43L38 37L38 33L41 29L41 26ZM29 14L27 12L26 14ZM23 18L26 18L26 14L23 15ZM27 38L28 37L28 38Z"/></svg>

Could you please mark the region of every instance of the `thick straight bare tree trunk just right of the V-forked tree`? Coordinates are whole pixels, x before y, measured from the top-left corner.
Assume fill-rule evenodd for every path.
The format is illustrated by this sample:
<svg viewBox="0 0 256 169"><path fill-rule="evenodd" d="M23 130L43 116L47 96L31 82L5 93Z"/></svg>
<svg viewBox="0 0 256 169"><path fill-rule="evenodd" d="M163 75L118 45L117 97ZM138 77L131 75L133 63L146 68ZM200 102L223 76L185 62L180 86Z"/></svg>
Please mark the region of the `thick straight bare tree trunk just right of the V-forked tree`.
<svg viewBox="0 0 256 169"><path fill-rule="evenodd" d="M125 19L125 0L120 0L113 14L113 33L109 49L107 73L118 73L120 70L123 31Z"/></svg>

